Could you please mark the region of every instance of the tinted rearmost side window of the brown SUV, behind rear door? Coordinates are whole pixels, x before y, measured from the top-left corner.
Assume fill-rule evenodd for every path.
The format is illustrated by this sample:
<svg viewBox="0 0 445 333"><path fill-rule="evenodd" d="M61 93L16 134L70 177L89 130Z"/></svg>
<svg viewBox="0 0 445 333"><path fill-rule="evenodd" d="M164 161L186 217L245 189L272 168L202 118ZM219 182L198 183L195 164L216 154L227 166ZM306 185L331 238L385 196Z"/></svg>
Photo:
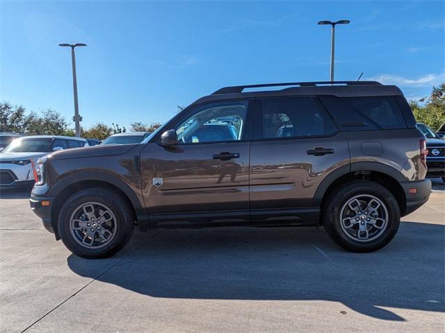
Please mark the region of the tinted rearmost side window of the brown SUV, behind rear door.
<svg viewBox="0 0 445 333"><path fill-rule="evenodd" d="M319 98L343 131L407 128L394 96Z"/></svg>

